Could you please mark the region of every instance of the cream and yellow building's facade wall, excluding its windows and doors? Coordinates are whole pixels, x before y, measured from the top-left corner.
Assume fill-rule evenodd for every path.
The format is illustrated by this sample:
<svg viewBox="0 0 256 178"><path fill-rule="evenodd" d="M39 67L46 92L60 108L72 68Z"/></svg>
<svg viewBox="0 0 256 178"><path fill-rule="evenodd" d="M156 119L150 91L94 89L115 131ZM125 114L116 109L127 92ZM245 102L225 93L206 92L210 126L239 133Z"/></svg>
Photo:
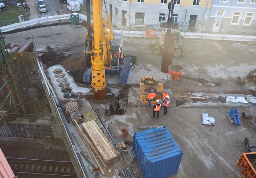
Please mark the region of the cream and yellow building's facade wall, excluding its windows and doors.
<svg viewBox="0 0 256 178"><path fill-rule="evenodd" d="M168 2L167 4L161 4L161 0L144 0L144 3L138 3L137 0L108 0L108 9L110 9L110 4L112 4L112 23L118 28L158 28L160 27L159 14L164 13L167 17L168 14ZM193 6L193 0L180 0L180 4L175 4L174 14L178 14L178 23L180 28L187 29L189 24L190 15L197 15L195 28L205 28L207 17L204 14L209 14L211 7L211 0L200 0L199 6ZM115 19L115 8L118 8L118 16ZM187 10L187 12L186 12ZM126 11L126 25L122 26L122 11ZM110 12L110 10L109 10ZM136 12L144 12L144 25L135 25L135 14ZM130 17L130 21L129 21ZM186 18L185 18L186 17ZM206 17L206 18L204 18ZM167 20L167 18L166 18Z"/></svg>

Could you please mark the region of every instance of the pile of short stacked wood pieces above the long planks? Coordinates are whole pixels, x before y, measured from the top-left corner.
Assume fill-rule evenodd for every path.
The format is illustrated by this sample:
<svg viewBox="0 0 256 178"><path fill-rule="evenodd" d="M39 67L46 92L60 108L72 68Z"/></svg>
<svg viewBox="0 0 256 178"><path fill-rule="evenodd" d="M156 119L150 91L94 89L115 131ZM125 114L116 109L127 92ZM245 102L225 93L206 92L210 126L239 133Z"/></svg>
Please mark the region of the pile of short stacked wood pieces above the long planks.
<svg viewBox="0 0 256 178"><path fill-rule="evenodd" d="M71 121L73 125L76 124L74 120L76 120L78 124L83 122L81 113L79 112L79 109L78 109L77 102L74 102L74 101L67 102L64 108L66 109L67 115L71 117Z"/></svg>

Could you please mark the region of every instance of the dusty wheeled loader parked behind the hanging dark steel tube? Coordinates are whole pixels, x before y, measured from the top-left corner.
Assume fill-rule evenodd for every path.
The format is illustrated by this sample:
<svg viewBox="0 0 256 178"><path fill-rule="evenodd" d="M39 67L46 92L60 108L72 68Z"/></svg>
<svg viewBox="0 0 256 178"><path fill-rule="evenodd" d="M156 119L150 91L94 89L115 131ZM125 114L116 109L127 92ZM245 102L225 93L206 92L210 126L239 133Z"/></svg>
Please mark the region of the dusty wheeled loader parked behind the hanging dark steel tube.
<svg viewBox="0 0 256 178"><path fill-rule="evenodd" d="M150 41L148 48L154 55L159 55L163 52L163 43L164 43L164 36L167 33L167 30L163 30L160 32L159 40ZM175 44L174 44L174 57L181 57L183 55L183 45L180 43L181 39L181 32L180 30L173 29L171 31L172 34L175 35Z"/></svg>

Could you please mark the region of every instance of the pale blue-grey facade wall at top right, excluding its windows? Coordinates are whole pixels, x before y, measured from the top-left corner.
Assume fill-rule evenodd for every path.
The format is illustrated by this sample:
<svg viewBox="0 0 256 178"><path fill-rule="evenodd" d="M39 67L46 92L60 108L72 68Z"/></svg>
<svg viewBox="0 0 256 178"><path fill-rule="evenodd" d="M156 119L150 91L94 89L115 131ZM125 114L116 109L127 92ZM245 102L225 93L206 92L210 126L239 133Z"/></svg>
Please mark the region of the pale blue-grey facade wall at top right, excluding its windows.
<svg viewBox="0 0 256 178"><path fill-rule="evenodd" d="M218 16L217 11L223 10L223 15ZM239 23L231 24L234 12L241 12ZM247 12L253 12L251 25L244 25L244 19ZM207 32L212 32L215 22L220 23L219 33L234 34L256 34L256 3L252 4L251 0L245 0L244 4L237 3L237 0L228 0L227 3L220 3L219 0L213 0L211 12L207 24Z"/></svg>

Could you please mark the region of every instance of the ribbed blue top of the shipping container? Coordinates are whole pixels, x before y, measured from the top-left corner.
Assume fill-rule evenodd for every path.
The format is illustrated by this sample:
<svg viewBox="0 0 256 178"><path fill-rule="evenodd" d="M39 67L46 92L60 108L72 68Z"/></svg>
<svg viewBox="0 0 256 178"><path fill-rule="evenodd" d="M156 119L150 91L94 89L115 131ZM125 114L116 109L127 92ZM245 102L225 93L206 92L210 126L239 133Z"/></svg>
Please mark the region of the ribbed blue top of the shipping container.
<svg viewBox="0 0 256 178"><path fill-rule="evenodd" d="M182 153L165 126L137 132L134 137L148 162L158 162Z"/></svg>

